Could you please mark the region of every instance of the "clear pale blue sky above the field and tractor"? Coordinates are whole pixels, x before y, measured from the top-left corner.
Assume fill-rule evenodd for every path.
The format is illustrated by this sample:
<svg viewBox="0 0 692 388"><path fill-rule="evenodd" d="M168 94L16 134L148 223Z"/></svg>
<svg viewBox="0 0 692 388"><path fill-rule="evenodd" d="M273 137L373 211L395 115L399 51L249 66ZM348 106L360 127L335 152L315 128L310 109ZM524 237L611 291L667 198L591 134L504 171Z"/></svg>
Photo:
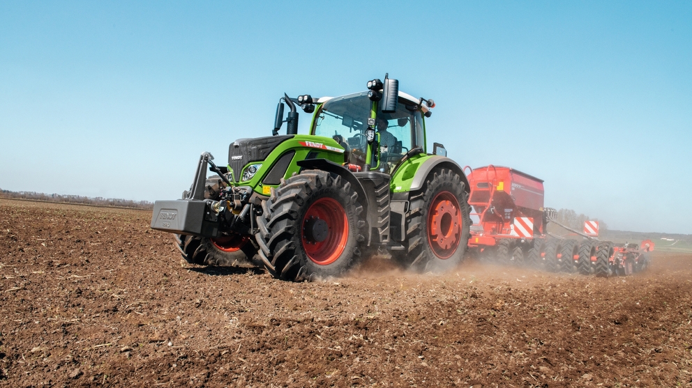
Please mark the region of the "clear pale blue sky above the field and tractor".
<svg viewBox="0 0 692 388"><path fill-rule="evenodd" d="M153 201L289 95L391 77L428 146L546 205L692 233L692 3L0 2L0 187ZM301 132L308 122L303 115Z"/></svg>

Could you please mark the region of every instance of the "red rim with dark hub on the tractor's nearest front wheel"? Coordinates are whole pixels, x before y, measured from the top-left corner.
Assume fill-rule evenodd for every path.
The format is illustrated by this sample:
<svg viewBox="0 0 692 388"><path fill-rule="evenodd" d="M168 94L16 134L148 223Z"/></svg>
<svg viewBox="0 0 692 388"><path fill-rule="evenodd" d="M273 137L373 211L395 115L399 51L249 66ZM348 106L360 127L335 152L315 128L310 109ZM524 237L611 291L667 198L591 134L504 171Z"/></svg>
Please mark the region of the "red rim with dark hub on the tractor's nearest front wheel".
<svg viewBox="0 0 692 388"><path fill-rule="evenodd" d="M326 231L315 238L311 230L315 223ZM310 204L303 216L301 241L308 258L319 265L336 261L346 248L348 240L348 218L346 210L336 199L324 197Z"/></svg>

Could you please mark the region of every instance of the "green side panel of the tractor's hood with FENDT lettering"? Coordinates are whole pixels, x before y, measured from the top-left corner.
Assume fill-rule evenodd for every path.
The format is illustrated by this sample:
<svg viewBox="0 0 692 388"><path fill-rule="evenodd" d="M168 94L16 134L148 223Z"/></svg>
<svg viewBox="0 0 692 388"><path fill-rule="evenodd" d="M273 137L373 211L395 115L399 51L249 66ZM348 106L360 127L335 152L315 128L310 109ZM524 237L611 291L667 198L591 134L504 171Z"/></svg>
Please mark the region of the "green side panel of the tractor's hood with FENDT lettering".
<svg viewBox="0 0 692 388"><path fill-rule="evenodd" d="M331 148L331 149L325 149ZM245 171L248 166L252 164L260 164L262 166L257 169L255 176L249 181L241 181L237 183L238 186L250 186L257 194L269 195L271 187L278 187L278 185L263 185L262 180L266 177L266 174L271 171L271 168L276 164L282 155L294 150L296 154L293 156L293 160L288 166L284 178L289 178L293 173L300 171L300 166L297 162L305 160L308 157L308 153L315 151L317 155L313 159L326 159L332 162L343 164L344 162L344 149L329 137L313 136L307 134L296 134L293 139L288 139L283 143L280 143L276 148L274 148L266 159L262 162L250 162L243 166L243 171ZM340 151L339 151L340 150ZM242 175L242 171L240 173Z"/></svg>

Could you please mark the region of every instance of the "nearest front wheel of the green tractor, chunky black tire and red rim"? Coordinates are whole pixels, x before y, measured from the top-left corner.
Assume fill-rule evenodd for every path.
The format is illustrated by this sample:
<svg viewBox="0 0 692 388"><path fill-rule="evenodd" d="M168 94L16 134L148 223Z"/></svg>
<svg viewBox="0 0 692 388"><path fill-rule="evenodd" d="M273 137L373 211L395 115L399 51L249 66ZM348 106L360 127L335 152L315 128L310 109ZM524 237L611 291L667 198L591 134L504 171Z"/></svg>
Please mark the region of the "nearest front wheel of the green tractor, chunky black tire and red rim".
<svg viewBox="0 0 692 388"><path fill-rule="evenodd" d="M257 217L260 258L289 281L339 277L359 260L363 206L336 174L308 170L283 181Z"/></svg>

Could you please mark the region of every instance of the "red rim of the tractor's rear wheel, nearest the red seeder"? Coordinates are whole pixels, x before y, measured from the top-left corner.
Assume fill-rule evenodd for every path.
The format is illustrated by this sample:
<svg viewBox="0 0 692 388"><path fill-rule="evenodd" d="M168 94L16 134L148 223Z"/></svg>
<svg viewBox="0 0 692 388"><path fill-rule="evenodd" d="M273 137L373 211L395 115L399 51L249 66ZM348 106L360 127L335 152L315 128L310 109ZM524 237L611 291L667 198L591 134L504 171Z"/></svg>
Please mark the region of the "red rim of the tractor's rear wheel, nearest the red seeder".
<svg viewBox="0 0 692 388"><path fill-rule="evenodd" d="M438 258L450 258L461 241L463 219L456 196L439 192L428 209L428 242Z"/></svg>

